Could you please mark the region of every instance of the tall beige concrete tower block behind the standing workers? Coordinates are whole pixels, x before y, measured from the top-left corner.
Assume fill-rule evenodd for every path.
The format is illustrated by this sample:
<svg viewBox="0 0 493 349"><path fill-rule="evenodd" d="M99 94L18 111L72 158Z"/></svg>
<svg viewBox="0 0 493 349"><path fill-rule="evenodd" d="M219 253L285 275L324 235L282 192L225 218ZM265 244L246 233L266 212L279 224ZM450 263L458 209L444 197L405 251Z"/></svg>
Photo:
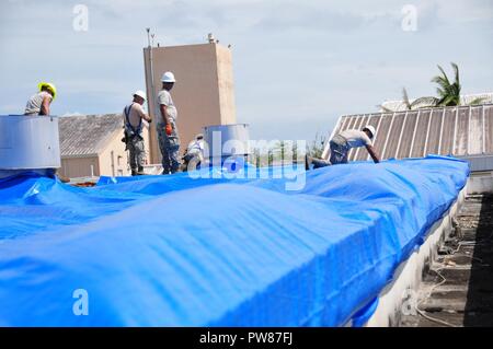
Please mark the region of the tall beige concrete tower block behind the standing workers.
<svg viewBox="0 0 493 349"><path fill-rule="evenodd" d="M161 75L172 71L176 83L171 91L176 105L180 152L203 127L237 123L231 50L216 43L144 49L149 112L158 112L156 96ZM152 86L153 84L153 86ZM161 162L156 125L150 132L150 160Z"/></svg>

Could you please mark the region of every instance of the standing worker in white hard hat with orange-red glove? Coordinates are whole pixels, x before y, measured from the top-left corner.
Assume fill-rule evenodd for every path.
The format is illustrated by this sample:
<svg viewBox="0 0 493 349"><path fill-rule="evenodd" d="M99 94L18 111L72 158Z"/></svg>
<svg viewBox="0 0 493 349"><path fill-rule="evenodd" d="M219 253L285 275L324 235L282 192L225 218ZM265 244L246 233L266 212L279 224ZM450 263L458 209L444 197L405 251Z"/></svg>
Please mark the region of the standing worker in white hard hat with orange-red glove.
<svg viewBox="0 0 493 349"><path fill-rule="evenodd" d="M173 174L180 170L180 137L176 128L177 110L170 91L176 80L171 71L161 78L162 90L158 94L157 131L159 148L162 154L162 174Z"/></svg>

